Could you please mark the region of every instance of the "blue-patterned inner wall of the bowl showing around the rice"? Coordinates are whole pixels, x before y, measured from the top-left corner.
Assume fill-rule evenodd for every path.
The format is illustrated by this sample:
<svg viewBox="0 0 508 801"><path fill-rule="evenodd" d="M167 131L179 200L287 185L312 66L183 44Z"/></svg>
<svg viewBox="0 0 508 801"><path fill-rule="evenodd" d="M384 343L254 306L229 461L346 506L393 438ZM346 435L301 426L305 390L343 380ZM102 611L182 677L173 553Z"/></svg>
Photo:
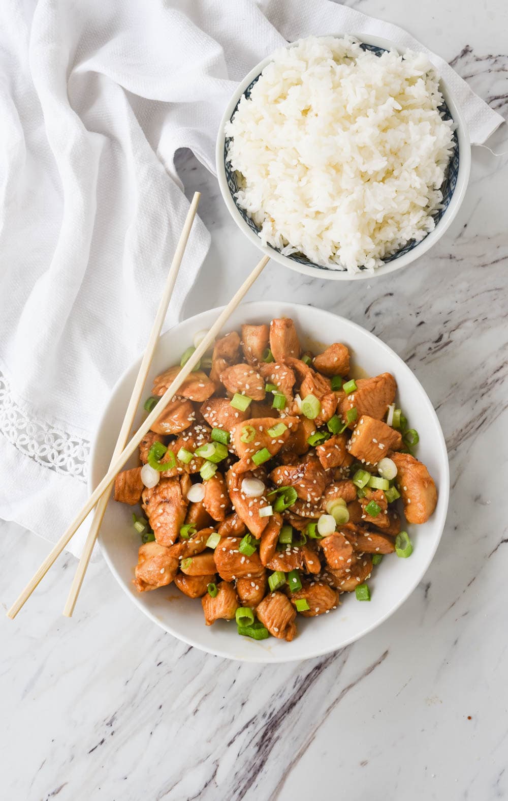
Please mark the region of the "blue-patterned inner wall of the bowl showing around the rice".
<svg viewBox="0 0 508 801"><path fill-rule="evenodd" d="M356 38L359 38L359 37L356 37ZM386 52L386 49L387 49L386 46L383 47L383 46L379 46L378 44L368 44L366 42L362 42L361 46L362 46L362 50L371 50L373 53L375 53L378 56L380 56L382 53ZM397 49L397 48L393 47L393 49ZM270 62L270 58L266 59L266 62L262 62L262 66L260 65L260 68L258 70L255 70L257 74L254 75L254 78L250 78L248 86L238 96L238 101L237 101L237 103L235 103L233 111L231 111L231 113L229 115L229 119L230 120L232 120L234 118L234 115L235 115L235 113L236 113L236 111L238 109L238 104L240 103L242 97L244 95L247 98L250 97L250 92L252 91L252 88L254 87L254 84L257 83L258 78L260 77L260 75L262 73L262 70L266 66L267 62ZM445 87L443 87L442 82L440 82L440 88L442 90L443 98L446 98L447 97L447 92L446 92ZM452 115L452 111L450 110L449 103L450 103L450 100L447 103L446 99L444 99L444 101L442 103L442 106L440 107L440 111L441 111L443 119L455 119L454 115ZM451 105L451 103L450 103L450 105ZM457 122L457 119L455 119L455 122ZM222 135L222 131L223 131L223 125L221 127L221 130L219 131L219 137ZM238 215L240 215L240 217L242 218L243 222L250 229L250 231L252 231L252 233L256 237L258 237L258 233L259 233L258 226L256 225L256 223L254 223L254 220L250 217L250 215L248 215L246 210L244 208L242 208L240 205L238 205L238 200L235 197L236 193L241 188L242 175L240 175L237 171L234 171L232 169L230 163L227 161L227 152L228 152L228 149L229 149L229 146L230 146L230 142L231 142L231 138L230 137L224 137L224 144L223 144L223 151L222 151L222 161L223 161L224 174L225 174L225 178L226 178L226 184L227 184L227 187L228 187L228 189L230 191L231 200L234 203L234 208L235 208L236 212L238 213ZM457 181L458 181L459 161L460 161L460 158L459 158L458 133L457 133L457 130L455 130L454 131L454 136L453 136L453 153L451 155L450 162L449 162L448 166L446 167L445 177L443 179L443 183L442 183L442 186L441 186L442 207L440 207L437 211L434 212L434 215L432 215L434 217L434 223L435 223L436 227L438 226L438 223L441 221L442 217L446 214L446 210L448 209L448 207L450 205L450 200L452 199L452 196L454 195L454 190L455 190L455 187L457 186ZM435 228L434 228L434 231L435 231ZM430 233L432 233L432 232L430 232ZM412 239L403 248L400 248L397 252L395 252L392 256L389 256L385 260L383 260L383 264L390 264L390 262L393 262L395 260L401 259L402 256L406 256L406 254L410 253L414 248L417 248L418 245L421 245L422 242L429 235L430 234L426 234L424 239L420 240L419 242L416 242L414 239ZM276 254L280 254L282 256L280 250L278 248L274 248L270 244L266 244L266 249L267 249L267 252L272 251L272 252L274 252ZM323 273L330 273L330 272L331 273L346 272L345 269L341 269L341 268L332 269L332 268L326 267L326 266L324 266L322 264L316 264L316 262L310 261L309 259L307 259L307 257L302 253L294 253L294 254L287 255L287 256L284 255L283 258L290 260L290 262L293 262L295 267L297 265L299 265L301 268L311 268L313 270L313 272L314 272L314 270L320 271L322 274ZM372 276L372 272L366 271L366 268L360 268L360 271L365 273L366 276ZM377 272L378 271L376 271L376 274L377 274ZM384 272L386 272L386 271L384 271ZM328 277L328 276L326 276L326 275L323 276L322 275L322 277Z"/></svg>

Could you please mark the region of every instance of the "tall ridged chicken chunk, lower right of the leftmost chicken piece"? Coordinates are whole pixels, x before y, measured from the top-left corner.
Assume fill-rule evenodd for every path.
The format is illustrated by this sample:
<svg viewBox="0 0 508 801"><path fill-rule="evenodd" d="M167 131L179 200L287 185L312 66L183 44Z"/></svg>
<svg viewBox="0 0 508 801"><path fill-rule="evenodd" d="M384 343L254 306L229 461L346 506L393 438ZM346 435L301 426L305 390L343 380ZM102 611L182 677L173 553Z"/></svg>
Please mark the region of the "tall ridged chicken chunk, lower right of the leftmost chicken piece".
<svg viewBox="0 0 508 801"><path fill-rule="evenodd" d="M159 545L173 545L186 517L187 504L178 478L161 478L142 491L142 509Z"/></svg>

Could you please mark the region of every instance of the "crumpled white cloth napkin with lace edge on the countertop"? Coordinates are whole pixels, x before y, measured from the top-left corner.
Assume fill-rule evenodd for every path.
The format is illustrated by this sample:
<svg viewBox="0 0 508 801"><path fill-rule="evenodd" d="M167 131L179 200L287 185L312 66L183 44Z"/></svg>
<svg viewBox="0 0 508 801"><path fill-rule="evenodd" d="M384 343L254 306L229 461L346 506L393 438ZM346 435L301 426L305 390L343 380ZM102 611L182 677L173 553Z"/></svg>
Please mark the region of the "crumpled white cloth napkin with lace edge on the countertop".
<svg viewBox="0 0 508 801"><path fill-rule="evenodd" d="M214 171L236 83L285 40L342 32L425 51L473 143L502 122L409 34L326 0L2 0L0 517L55 541L86 498L90 438L186 215L175 151ZM198 221L166 327L209 241Z"/></svg>

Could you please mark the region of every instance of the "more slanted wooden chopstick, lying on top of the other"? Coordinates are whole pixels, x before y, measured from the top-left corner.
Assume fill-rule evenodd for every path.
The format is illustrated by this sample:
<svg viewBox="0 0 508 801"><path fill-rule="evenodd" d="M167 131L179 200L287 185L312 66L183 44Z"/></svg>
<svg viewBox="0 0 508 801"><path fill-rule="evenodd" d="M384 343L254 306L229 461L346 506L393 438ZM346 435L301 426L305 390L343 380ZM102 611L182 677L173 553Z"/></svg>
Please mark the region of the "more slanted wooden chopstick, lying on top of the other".
<svg viewBox="0 0 508 801"><path fill-rule="evenodd" d="M88 501L83 506L81 511L74 517L74 520L70 524L69 528L66 530L65 533L62 534L62 537L58 540L57 544L54 545L54 548L46 557L42 565L38 568L35 572L34 576L30 579L30 582L26 585L25 589L22 590L22 593L19 597L14 601L14 604L10 607L10 610L7 612L7 617L14 619L18 614L19 610L22 606L26 603L30 595L34 592L35 587L38 586L38 583L41 582L42 578L46 575L47 571L50 570L50 567L53 565L55 559L58 557L62 550L65 548L67 543L70 541L71 537L74 536L76 529L82 524L82 521L85 520L88 513L90 513L91 509L94 508L94 505L97 503L102 494L106 492L106 490L110 487L113 483L117 473L122 469L123 465L125 465L127 459L132 456L134 451L138 448L139 443L142 441L142 438L145 434L150 430L151 426L160 417L160 414L172 399L172 397L178 392L178 389L182 385L183 381L186 379L187 376L194 370L198 361L204 356L210 345L214 343L215 337L221 332L222 327L229 319L234 309L237 308L238 304L242 301L243 297L246 295L246 292L249 291L254 281L258 278L261 274L262 270L266 267L266 264L270 261L270 256L263 256L262 260L256 264L254 270L250 273L250 276L246 278L243 282L242 286L235 292L234 296L231 298L230 302L227 304L226 308L222 310L219 314L217 320L215 320L214 324L210 328L210 331L206 334L202 342L198 345L198 348L194 351L190 359L186 362L186 364L182 367L178 376L175 378L173 383L166 389L164 395L162 395L161 399L158 401L158 404L155 406L154 410L150 412L146 420L142 423L139 427L138 431L134 434L134 437L130 440L130 442L126 445L126 447L122 450L122 453L118 454L118 457L114 460L114 462L110 465L110 469L106 473L106 476L102 478L102 481L99 481L97 487L94 489L94 492L90 495Z"/></svg>

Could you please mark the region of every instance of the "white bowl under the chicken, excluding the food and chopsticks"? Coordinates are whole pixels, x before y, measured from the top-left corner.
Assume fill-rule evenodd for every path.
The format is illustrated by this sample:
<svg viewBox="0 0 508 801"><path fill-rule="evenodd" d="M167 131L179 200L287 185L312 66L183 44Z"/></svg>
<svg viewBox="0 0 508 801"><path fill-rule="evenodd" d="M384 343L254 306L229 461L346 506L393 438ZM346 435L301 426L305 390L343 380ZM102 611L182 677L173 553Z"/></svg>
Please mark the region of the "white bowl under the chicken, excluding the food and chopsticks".
<svg viewBox="0 0 508 801"><path fill-rule="evenodd" d="M182 351L192 343L194 333L202 328L210 328L218 312L218 309L212 309L198 314L162 336L146 396L150 395L152 378L171 364L178 364ZM272 637L257 642L238 636L234 621L218 621L213 626L205 626L201 601L186 598L174 586L138 594L132 579L141 541L132 525L133 507L110 501L99 541L106 562L131 600L148 618L174 634L174 637L210 654L246 662L291 662L316 657L342 648L379 626L406 601L422 580L438 547L448 505L449 474L445 441L430 400L410 368L370 332L331 312L311 306L278 301L244 304L230 317L226 331L239 329L242 323L263 323L280 316L293 318L302 336L302 344L310 347L314 344L316 348L317 343L344 342L350 348L354 364L370 375L385 371L393 373L398 383L399 403L411 427L417 429L420 435L418 457L428 466L438 486L438 507L425 525L407 526L414 544L414 552L409 559L399 559L393 554L385 557L381 565L375 568L369 579L372 591L370 603L358 602L354 594L343 594L342 605L330 614L319 618L299 616L298 635L293 642ZM139 362L133 364L118 381L102 415L90 457L90 492L106 473L138 366ZM141 406L136 418L138 425L144 415ZM135 460L129 463L131 467L135 465Z"/></svg>

